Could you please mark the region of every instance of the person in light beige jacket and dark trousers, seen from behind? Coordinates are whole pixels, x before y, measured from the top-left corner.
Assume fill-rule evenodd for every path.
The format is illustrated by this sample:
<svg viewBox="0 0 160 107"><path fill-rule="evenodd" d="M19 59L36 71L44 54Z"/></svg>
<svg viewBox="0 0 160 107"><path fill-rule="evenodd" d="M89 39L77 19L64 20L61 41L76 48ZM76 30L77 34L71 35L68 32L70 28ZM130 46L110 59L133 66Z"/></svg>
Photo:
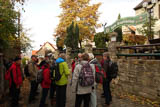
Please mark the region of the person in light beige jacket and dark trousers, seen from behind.
<svg viewBox="0 0 160 107"><path fill-rule="evenodd" d="M82 69L82 64L87 64L89 63L89 55L87 53L84 53L82 55L82 61L80 64L76 65L74 74L73 74L73 84L72 84L72 89L73 92L76 93L76 102L75 102L75 107L81 107L82 101L84 102L83 107L89 107L90 104L90 96L93 90L93 86L87 86L87 87L82 87L79 84L79 74ZM95 66L93 64L90 64L93 75L95 76Z"/></svg>

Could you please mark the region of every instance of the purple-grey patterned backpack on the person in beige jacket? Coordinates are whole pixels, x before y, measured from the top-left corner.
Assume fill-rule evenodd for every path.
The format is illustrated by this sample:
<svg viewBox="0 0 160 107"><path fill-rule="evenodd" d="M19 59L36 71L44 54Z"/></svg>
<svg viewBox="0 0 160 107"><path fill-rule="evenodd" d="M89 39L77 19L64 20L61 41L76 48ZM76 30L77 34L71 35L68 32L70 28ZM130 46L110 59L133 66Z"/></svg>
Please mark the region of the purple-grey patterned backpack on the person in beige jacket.
<svg viewBox="0 0 160 107"><path fill-rule="evenodd" d="M82 64L79 74L79 84L82 87L92 86L94 84L94 75L89 63Z"/></svg>

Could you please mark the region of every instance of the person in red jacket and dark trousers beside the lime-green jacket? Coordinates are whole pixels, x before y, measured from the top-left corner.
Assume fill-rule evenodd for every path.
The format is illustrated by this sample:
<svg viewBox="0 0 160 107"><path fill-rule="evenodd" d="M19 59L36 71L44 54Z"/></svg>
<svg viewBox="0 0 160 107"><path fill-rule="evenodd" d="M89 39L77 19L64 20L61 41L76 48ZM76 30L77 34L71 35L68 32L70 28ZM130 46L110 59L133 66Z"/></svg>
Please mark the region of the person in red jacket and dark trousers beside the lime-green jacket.
<svg viewBox="0 0 160 107"><path fill-rule="evenodd" d="M44 61L41 69L43 69L43 81L41 83L41 86L42 86L43 89L42 89L42 97L41 97L39 107L45 107L45 101L46 101L46 98L47 98L47 95L48 95L48 90L51 86L49 64L46 61Z"/></svg>

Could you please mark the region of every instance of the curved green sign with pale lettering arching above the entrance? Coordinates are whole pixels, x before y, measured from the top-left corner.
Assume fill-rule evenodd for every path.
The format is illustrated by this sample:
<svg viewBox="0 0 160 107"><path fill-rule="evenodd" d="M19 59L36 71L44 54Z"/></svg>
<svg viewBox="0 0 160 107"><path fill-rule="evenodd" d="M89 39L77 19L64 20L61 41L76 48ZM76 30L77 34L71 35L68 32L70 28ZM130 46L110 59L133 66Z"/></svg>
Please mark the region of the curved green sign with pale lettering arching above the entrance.
<svg viewBox="0 0 160 107"><path fill-rule="evenodd" d="M117 20L115 23L113 23L111 26L108 26L104 28L104 33L109 33L109 32L114 32L115 29L121 27L121 26L126 26L126 25L139 25L139 24L144 24L145 22L148 21L148 13L145 12L141 15L135 16L135 17L126 17L126 18L121 18Z"/></svg>

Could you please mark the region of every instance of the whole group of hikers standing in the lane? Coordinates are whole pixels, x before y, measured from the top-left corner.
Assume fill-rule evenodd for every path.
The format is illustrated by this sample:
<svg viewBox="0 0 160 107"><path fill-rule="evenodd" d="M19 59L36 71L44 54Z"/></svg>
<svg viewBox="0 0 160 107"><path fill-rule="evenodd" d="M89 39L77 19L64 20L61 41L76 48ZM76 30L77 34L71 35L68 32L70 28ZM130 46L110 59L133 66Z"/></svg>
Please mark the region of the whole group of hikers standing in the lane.
<svg viewBox="0 0 160 107"><path fill-rule="evenodd" d="M67 84L69 81L70 70L66 63L66 56L61 53L57 59L45 55L40 63L38 57L31 56L31 61L27 64L27 71L21 71L21 58L16 57L10 68L6 71L5 79L9 80L9 86L12 96L11 107L18 107L20 87L23 82L23 73L27 74L26 78L30 81L30 94L28 104L35 103L39 84L42 87L41 100L39 107L46 107L46 98L49 93L51 104L56 104L56 107L65 107ZM103 60L99 62L92 53L78 54L72 62L72 79L70 86L72 92L75 93L75 107L81 107L82 102L84 107L97 107L96 97L96 73L101 72L103 76L102 94L105 97L106 107L112 102L110 91L110 82L112 78L109 76L110 57L106 52L103 54ZM58 68L57 68L58 67ZM37 72L42 70L43 79L37 82ZM27 72L27 73L26 73ZM58 73L60 78L57 79ZM105 76L104 76L105 75Z"/></svg>

